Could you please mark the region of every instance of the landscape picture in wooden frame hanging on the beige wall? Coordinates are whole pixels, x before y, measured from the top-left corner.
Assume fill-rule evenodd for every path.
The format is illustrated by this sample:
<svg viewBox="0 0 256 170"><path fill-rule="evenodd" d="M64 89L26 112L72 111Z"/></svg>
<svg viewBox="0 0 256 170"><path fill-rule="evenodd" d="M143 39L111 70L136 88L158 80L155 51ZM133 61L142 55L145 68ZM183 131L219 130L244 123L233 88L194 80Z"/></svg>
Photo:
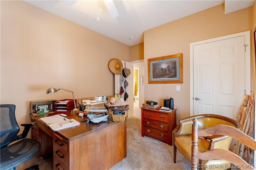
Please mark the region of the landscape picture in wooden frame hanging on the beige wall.
<svg viewBox="0 0 256 170"><path fill-rule="evenodd" d="M148 83L183 83L182 54L148 59Z"/></svg>

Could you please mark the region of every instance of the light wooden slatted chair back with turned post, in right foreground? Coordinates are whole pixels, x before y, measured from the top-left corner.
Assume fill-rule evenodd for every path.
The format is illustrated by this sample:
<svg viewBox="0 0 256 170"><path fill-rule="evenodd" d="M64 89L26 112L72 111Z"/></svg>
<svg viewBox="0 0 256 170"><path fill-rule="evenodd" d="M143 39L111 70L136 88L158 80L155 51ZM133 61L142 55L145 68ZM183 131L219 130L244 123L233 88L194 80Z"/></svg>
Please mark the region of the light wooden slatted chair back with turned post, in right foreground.
<svg viewBox="0 0 256 170"><path fill-rule="evenodd" d="M212 136L212 135L225 135L224 137L232 137L244 145L248 146L250 149L256 150L256 141L252 137L246 135L239 129L229 126L229 125L215 125L213 127L208 127L205 129L198 129L198 121L196 118L193 119L192 125L192 170L198 170L200 163L198 160L213 160L222 159L231 162L236 168L241 170L254 169L255 165L250 165L245 162L240 156L231 152L228 149L210 149L203 152L198 150L198 137L199 136ZM224 165L224 168L230 168L230 165ZM233 167L232 167L233 168Z"/></svg>

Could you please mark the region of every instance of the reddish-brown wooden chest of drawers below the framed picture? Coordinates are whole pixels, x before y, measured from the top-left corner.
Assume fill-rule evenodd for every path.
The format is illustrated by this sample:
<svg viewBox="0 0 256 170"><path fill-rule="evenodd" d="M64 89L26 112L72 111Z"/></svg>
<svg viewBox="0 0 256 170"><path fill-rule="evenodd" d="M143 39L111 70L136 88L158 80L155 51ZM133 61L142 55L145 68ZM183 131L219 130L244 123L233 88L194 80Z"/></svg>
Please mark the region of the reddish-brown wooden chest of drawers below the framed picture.
<svg viewBox="0 0 256 170"><path fill-rule="evenodd" d="M141 135L172 145L172 130L176 127L176 109L171 112L141 108Z"/></svg>

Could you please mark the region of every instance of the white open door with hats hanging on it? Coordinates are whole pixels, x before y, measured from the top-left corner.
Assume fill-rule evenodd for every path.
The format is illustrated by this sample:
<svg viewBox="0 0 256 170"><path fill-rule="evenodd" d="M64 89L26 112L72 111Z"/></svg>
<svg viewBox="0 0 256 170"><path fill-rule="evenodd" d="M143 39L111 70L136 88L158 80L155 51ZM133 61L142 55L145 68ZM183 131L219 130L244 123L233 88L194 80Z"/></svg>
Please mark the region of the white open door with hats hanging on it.
<svg viewBox="0 0 256 170"><path fill-rule="evenodd" d="M131 71L131 74L126 78L126 81L128 82L128 86L126 87L126 89L124 89L124 82L122 82L122 84L120 84L120 75L115 74L115 82L114 82L114 94L116 97L116 93L119 94L120 92L120 88L121 85L124 89L124 91L128 94L128 98L126 100L126 102L128 102L129 104L129 110L128 110L128 118L129 117L133 117L133 89L134 89L134 84L133 84L133 63L127 62L127 61L122 61L123 64L123 68L129 68ZM124 98L124 93L122 94L121 98Z"/></svg>

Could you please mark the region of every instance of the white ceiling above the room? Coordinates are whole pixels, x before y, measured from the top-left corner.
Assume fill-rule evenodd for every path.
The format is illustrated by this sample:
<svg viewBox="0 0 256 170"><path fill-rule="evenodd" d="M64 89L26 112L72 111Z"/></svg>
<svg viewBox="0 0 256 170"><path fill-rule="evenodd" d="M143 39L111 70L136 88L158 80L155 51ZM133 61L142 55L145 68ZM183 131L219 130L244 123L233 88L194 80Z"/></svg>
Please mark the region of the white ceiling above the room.
<svg viewBox="0 0 256 170"><path fill-rule="evenodd" d="M225 3L228 14L254 3L254 0L114 0L119 15L112 18L103 0L24 1L129 46L143 43L143 32L148 29L213 6ZM133 40L129 39L131 36Z"/></svg>

